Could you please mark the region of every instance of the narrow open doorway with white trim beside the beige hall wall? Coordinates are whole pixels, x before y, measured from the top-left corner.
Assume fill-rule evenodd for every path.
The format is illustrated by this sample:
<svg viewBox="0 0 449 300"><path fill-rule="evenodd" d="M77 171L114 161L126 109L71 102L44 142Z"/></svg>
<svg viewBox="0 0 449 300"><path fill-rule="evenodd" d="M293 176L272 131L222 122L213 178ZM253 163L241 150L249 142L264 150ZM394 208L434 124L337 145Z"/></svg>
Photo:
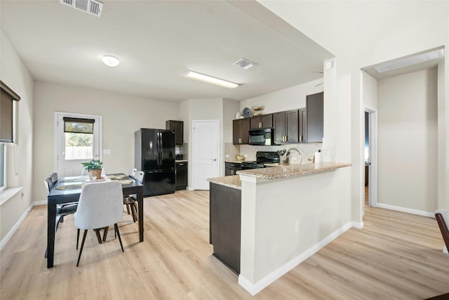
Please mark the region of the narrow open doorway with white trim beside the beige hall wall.
<svg viewBox="0 0 449 300"><path fill-rule="evenodd" d="M377 111L365 107L364 205L377 206Z"/></svg>

